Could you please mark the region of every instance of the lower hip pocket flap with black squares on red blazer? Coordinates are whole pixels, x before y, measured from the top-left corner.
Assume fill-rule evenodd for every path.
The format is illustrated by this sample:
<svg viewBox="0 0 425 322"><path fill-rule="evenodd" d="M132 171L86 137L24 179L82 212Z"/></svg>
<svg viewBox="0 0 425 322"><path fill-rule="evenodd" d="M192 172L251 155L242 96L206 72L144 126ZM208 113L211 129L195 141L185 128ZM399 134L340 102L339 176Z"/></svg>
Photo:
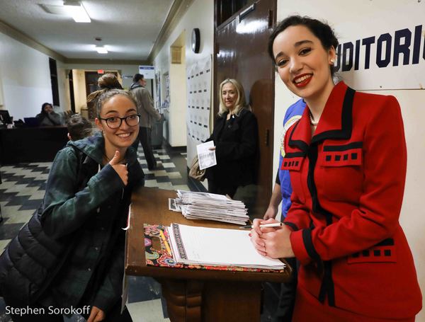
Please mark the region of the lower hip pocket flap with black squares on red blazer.
<svg viewBox="0 0 425 322"><path fill-rule="evenodd" d="M397 254L395 252L394 239L392 238L387 238L365 251L348 256L348 264L395 262L397 262Z"/></svg>

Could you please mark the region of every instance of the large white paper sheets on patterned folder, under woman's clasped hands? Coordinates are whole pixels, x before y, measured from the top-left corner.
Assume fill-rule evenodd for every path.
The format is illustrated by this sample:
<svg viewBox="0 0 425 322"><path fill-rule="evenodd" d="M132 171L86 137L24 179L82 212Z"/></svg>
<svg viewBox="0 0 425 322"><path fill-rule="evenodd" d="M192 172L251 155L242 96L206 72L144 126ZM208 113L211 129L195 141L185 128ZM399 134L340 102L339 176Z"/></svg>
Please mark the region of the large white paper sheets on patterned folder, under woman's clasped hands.
<svg viewBox="0 0 425 322"><path fill-rule="evenodd" d="M283 270L278 259L260 255L249 239L249 231L171 224L167 227L176 263L237 266Z"/></svg>

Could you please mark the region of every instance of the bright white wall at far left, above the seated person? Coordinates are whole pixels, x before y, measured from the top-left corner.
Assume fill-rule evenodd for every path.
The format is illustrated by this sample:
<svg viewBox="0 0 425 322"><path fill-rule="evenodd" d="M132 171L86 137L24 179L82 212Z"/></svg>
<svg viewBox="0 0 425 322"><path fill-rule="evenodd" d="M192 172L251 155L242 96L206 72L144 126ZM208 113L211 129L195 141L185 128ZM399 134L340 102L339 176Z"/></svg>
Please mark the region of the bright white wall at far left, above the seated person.
<svg viewBox="0 0 425 322"><path fill-rule="evenodd" d="M0 66L2 108L8 110L14 120L35 116L40 113L42 103L52 102L46 54L0 33ZM62 74L60 81L63 81ZM60 86L61 107L63 96L64 89Z"/></svg>

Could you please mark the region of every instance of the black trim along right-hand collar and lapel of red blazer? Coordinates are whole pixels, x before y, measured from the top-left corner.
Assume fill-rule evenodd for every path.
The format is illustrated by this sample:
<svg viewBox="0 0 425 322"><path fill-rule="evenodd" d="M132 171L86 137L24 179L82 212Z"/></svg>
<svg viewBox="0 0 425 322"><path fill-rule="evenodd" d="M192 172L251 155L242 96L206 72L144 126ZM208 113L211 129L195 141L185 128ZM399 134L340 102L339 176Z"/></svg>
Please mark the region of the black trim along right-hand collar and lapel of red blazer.
<svg viewBox="0 0 425 322"><path fill-rule="evenodd" d="M322 132L312 137L312 143L322 141L324 139L349 139L351 130L353 129L353 100L356 91L347 87L344 103L341 113L341 130L331 130Z"/></svg>

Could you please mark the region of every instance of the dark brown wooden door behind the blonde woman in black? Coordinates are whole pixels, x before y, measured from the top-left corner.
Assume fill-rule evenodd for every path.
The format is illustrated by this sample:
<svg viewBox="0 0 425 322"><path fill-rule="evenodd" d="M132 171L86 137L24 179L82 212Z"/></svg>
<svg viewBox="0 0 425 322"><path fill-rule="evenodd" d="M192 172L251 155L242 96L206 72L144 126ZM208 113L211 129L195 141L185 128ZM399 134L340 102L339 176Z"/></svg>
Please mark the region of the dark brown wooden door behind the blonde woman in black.
<svg viewBox="0 0 425 322"><path fill-rule="evenodd" d="M267 42L276 21L276 0L245 1L246 5L239 11L217 25L222 21L223 8L234 8L226 1L215 0L214 114L218 113L220 83L227 78L240 81L259 123L259 175L251 214L262 217L271 197L273 180L275 72L267 54ZM253 201L252 195L249 199Z"/></svg>

